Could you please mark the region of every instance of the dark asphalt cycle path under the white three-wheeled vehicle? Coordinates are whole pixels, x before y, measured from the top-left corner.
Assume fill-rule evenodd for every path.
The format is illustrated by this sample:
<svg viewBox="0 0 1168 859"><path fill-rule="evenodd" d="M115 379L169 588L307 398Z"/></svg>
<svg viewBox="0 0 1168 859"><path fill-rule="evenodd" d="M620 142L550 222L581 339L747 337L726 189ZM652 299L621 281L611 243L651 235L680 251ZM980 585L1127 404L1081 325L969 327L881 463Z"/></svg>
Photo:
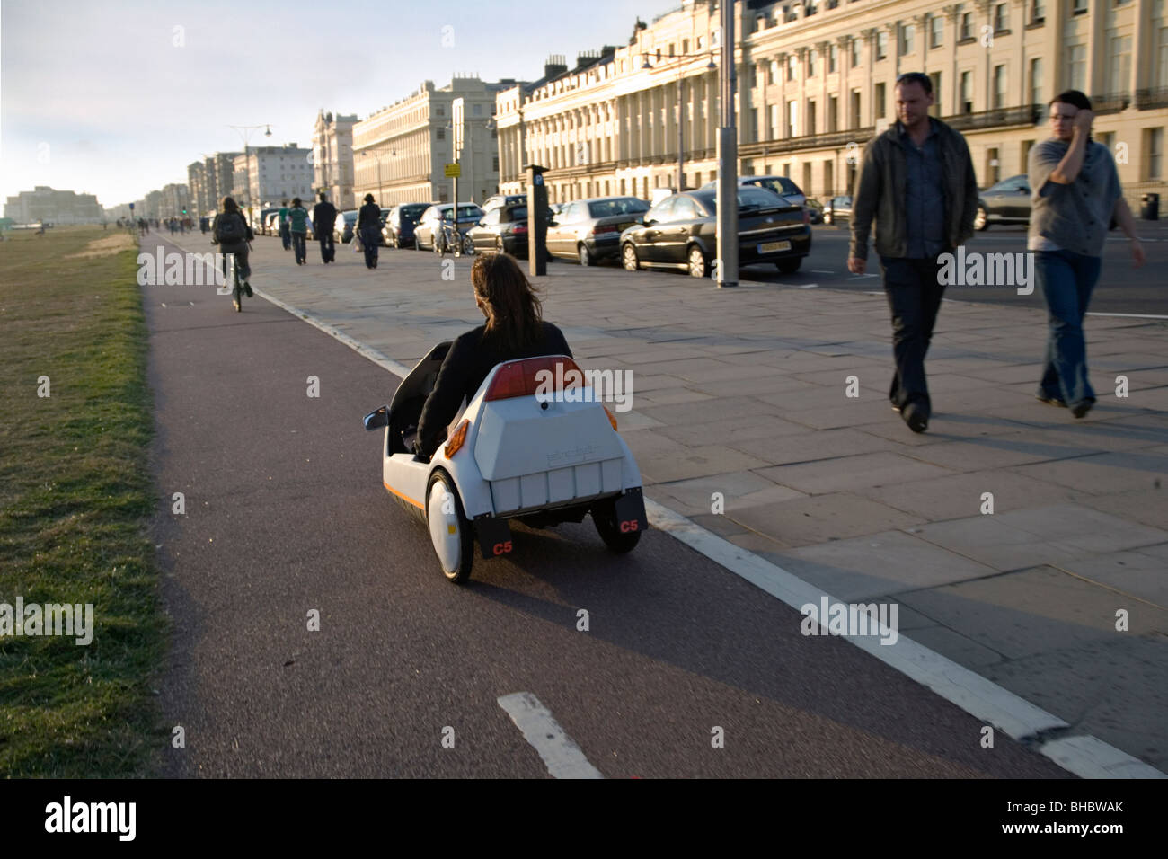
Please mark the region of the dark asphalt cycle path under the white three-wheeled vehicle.
<svg viewBox="0 0 1168 859"><path fill-rule="evenodd" d="M144 296L168 775L548 777L499 704L526 692L605 777L1066 776L660 532L520 526L447 583L361 425L395 376L258 297Z"/></svg>

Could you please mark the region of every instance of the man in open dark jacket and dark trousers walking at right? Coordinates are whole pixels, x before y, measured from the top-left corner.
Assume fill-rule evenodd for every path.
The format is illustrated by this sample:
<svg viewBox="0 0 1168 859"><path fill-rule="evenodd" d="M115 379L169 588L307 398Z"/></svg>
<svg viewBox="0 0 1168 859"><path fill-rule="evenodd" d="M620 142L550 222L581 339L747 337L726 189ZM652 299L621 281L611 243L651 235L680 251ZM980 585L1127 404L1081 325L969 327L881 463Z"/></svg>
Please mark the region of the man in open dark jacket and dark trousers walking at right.
<svg viewBox="0 0 1168 859"><path fill-rule="evenodd" d="M938 256L973 235L978 180L965 138L929 116L929 76L901 75L895 92L897 122L864 147L856 176L848 271L864 272L875 219L896 359L888 395L909 428L924 432L932 414L925 353L945 292Z"/></svg>

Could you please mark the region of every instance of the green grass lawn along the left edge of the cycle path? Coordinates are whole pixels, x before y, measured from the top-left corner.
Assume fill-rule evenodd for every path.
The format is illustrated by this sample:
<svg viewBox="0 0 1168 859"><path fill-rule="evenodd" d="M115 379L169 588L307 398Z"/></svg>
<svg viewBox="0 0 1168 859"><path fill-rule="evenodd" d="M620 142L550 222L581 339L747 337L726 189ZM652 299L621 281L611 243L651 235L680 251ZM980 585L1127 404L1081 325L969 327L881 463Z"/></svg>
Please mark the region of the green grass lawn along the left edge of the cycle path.
<svg viewBox="0 0 1168 859"><path fill-rule="evenodd" d="M116 233L0 243L0 602L93 604L88 646L0 638L0 776L151 775L167 739L137 248L67 258Z"/></svg>

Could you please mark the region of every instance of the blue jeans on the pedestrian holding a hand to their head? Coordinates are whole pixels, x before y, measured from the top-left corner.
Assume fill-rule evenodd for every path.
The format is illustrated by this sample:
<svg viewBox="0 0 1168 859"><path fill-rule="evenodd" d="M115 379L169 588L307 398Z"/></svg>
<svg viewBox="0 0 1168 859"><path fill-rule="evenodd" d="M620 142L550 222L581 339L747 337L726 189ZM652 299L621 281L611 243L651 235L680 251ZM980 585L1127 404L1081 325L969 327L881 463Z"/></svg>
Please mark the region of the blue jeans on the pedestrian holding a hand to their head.
<svg viewBox="0 0 1168 859"><path fill-rule="evenodd" d="M1087 347L1083 317L1103 259L1070 250L1035 251L1035 272L1047 302L1047 359L1038 396L1062 400L1070 408L1094 402L1087 377Z"/></svg>

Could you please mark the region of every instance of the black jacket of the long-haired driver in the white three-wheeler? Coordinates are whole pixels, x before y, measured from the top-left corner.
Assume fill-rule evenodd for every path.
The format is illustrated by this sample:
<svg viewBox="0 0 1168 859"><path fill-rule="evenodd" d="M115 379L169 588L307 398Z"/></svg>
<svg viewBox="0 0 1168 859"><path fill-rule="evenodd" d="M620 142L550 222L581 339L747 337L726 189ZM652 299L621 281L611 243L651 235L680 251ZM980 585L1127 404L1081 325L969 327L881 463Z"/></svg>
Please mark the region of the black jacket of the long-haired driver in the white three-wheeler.
<svg viewBox="0 0 1168 859"><path fill-rule="evenodd" d="M486 338L486 326L480 325L459 337L446 353L446 360L438 370L434 389L426 397L418 421L418 452L433 456L446 437L446 428L458 414L463 399L470 402L482 386L487 374L496 363L519 358L537 355L568 355L571 349L564 334L551 323L543 324L543 341L519 352L509 351L501 344Z"/></svg>

